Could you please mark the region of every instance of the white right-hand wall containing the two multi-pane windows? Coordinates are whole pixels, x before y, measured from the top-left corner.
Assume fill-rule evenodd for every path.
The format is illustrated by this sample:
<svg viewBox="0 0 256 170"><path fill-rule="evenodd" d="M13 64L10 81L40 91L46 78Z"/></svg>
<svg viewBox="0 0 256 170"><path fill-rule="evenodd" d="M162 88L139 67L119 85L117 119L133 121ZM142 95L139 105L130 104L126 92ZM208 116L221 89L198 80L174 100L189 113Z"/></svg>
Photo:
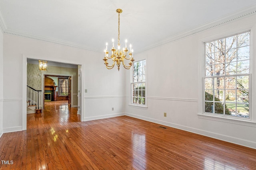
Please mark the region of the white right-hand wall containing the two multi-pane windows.
<svg viewBox="0 0 256 170"><path fill-rule="evenodd" d="M252 29L252 122L202 116L202 46L213 40ZM256 15L220 24L161 47L134 55L146 59L148 108L129 106L126 115L160 123L256 149ZM130 76L126 74L126 86ZM126 95L130 96L127 88ZM164 112L167 117L164 117ZM213 119L213 120L211 120ZM170 139L171 140L171 139Z"/></svg>

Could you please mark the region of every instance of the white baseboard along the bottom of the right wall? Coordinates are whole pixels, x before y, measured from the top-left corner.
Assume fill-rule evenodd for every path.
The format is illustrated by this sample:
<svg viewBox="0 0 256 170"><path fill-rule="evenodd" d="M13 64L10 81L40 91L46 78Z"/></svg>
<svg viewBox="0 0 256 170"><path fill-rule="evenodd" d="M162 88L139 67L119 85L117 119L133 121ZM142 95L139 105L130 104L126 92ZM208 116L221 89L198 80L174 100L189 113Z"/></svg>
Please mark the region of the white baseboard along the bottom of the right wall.
<svg viewBox="0 0 256 170"><path fill-rule="evenodd" d="M161 125L173 127L173 128L176 128L176 129L196 133L198 135L203 135L203 136L211 137L211 138L214 138L214 139L219 139L221 141L226 141L226 142L229 142L229 143L242 145L244 147L249 147L249 148L252 148L252 149L256 149L256 142L255 141L247 141L247 140L244 140L244 139L230 137L230 136L222 135L222 134L218 134L218 133L212 133L212 132L209 132L209 131L204 131L204 130L201 130L201 129L195 129L195 128L192 128L192 127L178 125L178 124L175 124L175 123L170 123L170 122L166 122L166 121L152 119L152 118L148 118L148 117L144 117L144 116L140 116L140 115L134 115L134 114L131 114L131 113L125 113L125 115L130 116L130 117L134 117L134 118L137 118L137 119L142 119L142 120L145 120L145 121L150 121L150 122L153 122L153 123L158 123L158 124L161 124Z"/></svg>

